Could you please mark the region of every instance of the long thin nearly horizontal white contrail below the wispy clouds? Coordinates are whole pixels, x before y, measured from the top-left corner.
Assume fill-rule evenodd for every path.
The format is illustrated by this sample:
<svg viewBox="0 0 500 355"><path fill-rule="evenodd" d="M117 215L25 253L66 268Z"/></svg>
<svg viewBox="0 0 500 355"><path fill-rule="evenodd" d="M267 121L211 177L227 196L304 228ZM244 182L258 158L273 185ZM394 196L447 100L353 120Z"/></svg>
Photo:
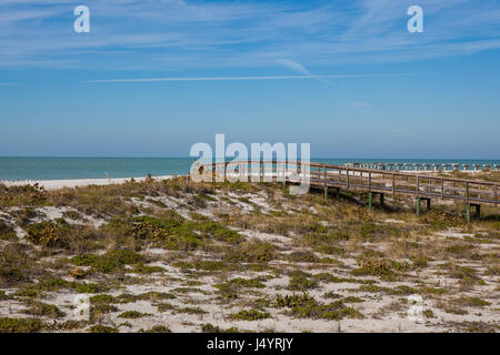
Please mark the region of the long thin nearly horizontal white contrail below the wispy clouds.
<svg viewBox="0 0 500 355"><path fill-rule="evenodd" d="M107 79L88 80L86 83L112 82L159 82L159 81L238 81L238 80L294 80L294 79L342 79L370 77L399 77L408 74L351 74L351 75L272 75L272 77L201 77L201 78L139 78L139 79Z"/></svg>

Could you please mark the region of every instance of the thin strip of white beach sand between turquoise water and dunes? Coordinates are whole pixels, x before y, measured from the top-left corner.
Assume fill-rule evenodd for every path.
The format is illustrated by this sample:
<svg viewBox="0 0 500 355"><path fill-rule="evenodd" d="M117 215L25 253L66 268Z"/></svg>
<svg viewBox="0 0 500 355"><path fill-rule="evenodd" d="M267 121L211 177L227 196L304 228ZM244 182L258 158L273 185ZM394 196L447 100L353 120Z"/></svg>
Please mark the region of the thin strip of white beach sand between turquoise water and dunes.
<svg viewBox="0 0 500 355"><path fill-rule="evenodd" d="M180 175L164 175L164 176L153 176L153 180L169 180ZM111 184L122 184L130 181L132 178L118 178L118 179L76 179L76 180L23 180L23 181L0 181L6 186L22 186L22 185L34 185L38 183L46 190L58 190L62 187L77 187L77 186L89 186L89 185L111 185ZM133 178L137 182L144 181L146 178Z"/></svg>

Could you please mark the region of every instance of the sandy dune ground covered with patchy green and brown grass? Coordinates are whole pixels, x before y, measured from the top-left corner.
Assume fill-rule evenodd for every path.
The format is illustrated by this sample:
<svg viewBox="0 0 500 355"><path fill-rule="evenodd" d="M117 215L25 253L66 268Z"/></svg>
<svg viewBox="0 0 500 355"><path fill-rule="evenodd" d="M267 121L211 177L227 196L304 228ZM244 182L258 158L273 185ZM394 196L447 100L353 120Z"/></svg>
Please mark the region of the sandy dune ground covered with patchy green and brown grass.
<svg viewBox="0 0 500 355"><path fill-rule="evenodd" d="M269 320L297 321L300 331L301 320L346 317L362 329L367 318L400 320L404 297L419 294L433 331L463 331L457 317L498 310L498 211L467 224L460 205L418 217L404 197L387 196L371 212L364 202L356 193L323 200L321 191L291 196L281 184L184 179L50 192L0 186L0 298L28 307L0 308L0 317L9 329L31 326L11 321L19 314L41 318L36 331L236 329L232 322L263 331L256 324ZM292 296L304 291L306 301ZM72 310L51 301L61 292L101 295L90 324L68 323ZM293 305L278 306L277 297ZM160 313L187 321L158 324Z"/></svg>

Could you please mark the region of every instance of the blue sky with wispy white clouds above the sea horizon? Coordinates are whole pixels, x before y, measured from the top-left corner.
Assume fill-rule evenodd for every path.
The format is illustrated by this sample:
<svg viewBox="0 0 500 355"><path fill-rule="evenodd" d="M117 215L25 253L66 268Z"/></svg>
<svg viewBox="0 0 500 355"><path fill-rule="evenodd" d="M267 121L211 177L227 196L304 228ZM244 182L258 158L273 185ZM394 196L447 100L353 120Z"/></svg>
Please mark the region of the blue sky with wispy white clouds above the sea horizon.
<svg viewBox="0 0 500 355"><path fill-rule="evenodd" d="M499 63L497 0L2 0L0 155L499 159Z"/></svg>

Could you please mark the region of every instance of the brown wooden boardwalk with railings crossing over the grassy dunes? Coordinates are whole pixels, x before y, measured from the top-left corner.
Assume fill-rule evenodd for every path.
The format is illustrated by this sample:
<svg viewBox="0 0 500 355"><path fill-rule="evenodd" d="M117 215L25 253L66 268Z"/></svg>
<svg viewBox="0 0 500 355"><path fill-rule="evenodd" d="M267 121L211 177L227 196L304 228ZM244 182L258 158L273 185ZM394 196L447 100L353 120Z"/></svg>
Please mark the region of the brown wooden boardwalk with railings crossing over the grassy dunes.
<svg viewBox="0 0 500 355"><path fill-rule="evenodd" d="M384 171L378 169L354 168L323 163L290 163L279 161L224 162L201 165L204 173L210 173L219 181L234 180L247 174L249 180L300 183L309 178L310 185L324 189L352 190L369 193L371 207L373 194L379 194L383 203L384 194L406 195L417 199L417 212L420 213L420 201L426 200L430 207L431 199L463 202L468 217L470 206L499 205L499 183L439 176L437 174L418 174L411 172ZM201 172L200 170L200 172ZM298 173L294 173L298 172Z"/></svg>

